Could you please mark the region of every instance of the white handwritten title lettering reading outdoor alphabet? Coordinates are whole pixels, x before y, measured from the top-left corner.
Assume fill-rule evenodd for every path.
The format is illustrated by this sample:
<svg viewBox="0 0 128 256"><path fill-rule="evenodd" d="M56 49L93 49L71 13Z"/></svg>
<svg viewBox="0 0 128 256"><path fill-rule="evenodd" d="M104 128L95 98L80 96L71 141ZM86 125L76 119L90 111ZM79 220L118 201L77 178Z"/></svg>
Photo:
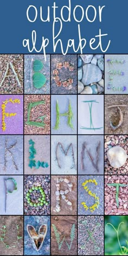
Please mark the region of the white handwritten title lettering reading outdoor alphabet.
<svg viewBox="0 0 128 256"><path fill-rule="evenodd" d="M98 31L96 32L97 34L94 37L90 38L89 42L87 42L85 36L82 38L81 35L81 25L84 25L84 31L88 31L88 29L86 28L87 23L94 23L95 25L95 22L97 22L98 24L102 22L104 9L105 5L99 5L97 8L95 8L93 5L87 5L87 7L82 7L81 5L73 6L73 4L71 5L71 0L68 0L68 5L63 5L62 7L57 6L55 2L53 6L47 6L47 8L43 6L37 8L35 5L29 5L26 12L27 20L34 24L36 24L35 22L38 22L38 24L40 24L40 22L43 22L42 30L44 32L46 31L46 24L48 22L52 22L51 27L53 27L53 34L52 40L51 38L45 38L43 35L42 42L40 42L40 33L37 38L38 32L36 30L33 30L31 31L31 39L23 39L23 47L27 47L30 53L32 53L33 51L37 53L43 52L45 58L46 48L48 44L52 43L52 41L54 53L57 51L57 48L59 48L61 49L62 54L65 55L68 53L69 48L72 48L74 53L80 51L80 53L82 54L82 50L85 48L87 43L92 50L99 49L101 50L101 52L104 53L107 51L111 43L111 40L106 41L106 36L108 36L108 34L103 33L103 31L98 28ZM66 42L66 37L63 39L63 35L67 32L67 29L70 29L71 27L72 30L75 31L75 34L78 33L78 38L75 37L75 39L69 39L67 37Z"/></svg>

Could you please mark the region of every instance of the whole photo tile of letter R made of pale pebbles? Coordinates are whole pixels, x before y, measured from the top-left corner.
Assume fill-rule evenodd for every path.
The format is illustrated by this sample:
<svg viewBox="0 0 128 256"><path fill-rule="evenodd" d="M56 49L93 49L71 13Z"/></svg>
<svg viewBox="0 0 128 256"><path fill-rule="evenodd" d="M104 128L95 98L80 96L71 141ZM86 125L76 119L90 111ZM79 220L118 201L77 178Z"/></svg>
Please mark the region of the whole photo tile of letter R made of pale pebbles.
<svg viewBox="0 0 128 256"><path fill-rule="evenodd" d="M51 176L51 214L77 214L77 176Z"/></svg>

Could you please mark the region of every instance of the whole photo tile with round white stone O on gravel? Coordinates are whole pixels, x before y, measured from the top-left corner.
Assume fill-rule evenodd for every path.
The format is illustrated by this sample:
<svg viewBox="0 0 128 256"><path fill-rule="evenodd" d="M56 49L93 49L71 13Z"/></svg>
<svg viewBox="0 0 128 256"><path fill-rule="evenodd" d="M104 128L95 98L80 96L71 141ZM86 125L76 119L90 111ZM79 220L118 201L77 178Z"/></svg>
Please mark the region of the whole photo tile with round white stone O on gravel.
<svg viewBox="0 0 128 256"><path fill-rule="evenodd" d="M105 174L128 174L127 135L105 136Z"/></svg>

